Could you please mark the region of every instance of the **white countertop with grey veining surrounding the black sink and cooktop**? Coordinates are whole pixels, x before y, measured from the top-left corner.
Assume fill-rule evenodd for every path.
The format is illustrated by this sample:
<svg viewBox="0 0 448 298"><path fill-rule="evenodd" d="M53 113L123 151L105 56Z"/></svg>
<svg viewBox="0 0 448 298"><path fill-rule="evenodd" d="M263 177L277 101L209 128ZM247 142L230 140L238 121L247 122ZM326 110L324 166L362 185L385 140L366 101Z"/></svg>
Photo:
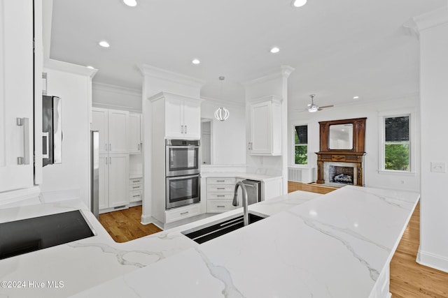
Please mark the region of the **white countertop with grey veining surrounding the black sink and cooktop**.
<svg viewBox="0 0 448 298"><path fill-rule="evenodd" d="M251 205L269 217L200 245L181 232L241 210L124 244L86 212L97 236L0 260L2 281L63 288L0 288L0 297L388 297L388 264L418 200L356 186L298 191ZM3 209L0 218L73 208Z"/></svg>

